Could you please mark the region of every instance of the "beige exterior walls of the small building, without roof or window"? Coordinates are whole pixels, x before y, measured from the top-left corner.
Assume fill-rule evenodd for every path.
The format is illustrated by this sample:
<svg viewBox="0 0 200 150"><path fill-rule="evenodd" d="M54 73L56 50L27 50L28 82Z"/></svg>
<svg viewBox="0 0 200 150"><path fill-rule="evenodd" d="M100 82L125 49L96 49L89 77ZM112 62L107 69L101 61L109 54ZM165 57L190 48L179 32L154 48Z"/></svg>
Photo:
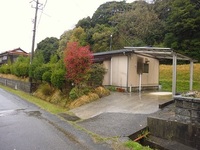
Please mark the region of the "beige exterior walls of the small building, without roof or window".
<svg viewBox="0 0 200 150"><path fill-rule="evenodd" d="M147 58L149 61L149 73L142 74L142 86L158 86L159 61L136 54L113 56L111 60L105 60L103 64L106 69L106 74L103 85L138 87L139 74L137 73L137 57L143 57L144 60Z"/></svg>

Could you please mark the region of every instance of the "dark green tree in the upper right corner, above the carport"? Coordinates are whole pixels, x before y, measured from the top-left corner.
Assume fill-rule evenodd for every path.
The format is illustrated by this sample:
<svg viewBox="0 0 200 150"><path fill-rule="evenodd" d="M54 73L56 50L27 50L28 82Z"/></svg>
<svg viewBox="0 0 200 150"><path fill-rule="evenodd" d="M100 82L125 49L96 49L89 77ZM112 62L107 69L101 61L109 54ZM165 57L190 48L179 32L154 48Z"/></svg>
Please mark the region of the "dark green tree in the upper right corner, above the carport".
<svg viewBox="0 0 200 150"><path fill-rule="evenodd" d="M200 9L198 1L174 0L167 18L165 44L196 59L200 58Z"/></svg>

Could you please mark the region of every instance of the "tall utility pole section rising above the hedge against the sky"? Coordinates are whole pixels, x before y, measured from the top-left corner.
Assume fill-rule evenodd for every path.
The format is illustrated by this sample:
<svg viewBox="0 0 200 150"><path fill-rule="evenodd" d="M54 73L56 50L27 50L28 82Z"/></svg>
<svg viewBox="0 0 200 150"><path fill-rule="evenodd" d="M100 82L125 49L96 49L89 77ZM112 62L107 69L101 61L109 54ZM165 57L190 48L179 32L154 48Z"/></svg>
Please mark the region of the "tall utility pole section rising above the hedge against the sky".
<svg viewBox="0 0 200 150"><path fill-rule="evenodd" d="M36 25L37 25L37 13L38 13L38 5L39 5L39 0L34 1L36 2L36 7L35 7L35 19L34 19L34 27L33 27L33 39L32 39L32 49L31 49L31 59L30 59L30 64L32 64L33 61L33 56L34 56L34 47L35 47L35 34L36 34Z"/></svg>

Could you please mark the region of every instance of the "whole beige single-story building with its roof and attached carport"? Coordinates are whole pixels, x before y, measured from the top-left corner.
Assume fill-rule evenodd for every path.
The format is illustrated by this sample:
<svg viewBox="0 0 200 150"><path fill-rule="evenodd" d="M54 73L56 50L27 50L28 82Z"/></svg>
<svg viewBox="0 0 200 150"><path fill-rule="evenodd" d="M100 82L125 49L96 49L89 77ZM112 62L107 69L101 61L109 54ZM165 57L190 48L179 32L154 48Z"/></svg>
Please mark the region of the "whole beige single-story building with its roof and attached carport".
<svg viewBox="0 0 200 150"><path fill-rule="evenodd" d="M159 88L159 65L161 59L173 60L173 93L176 92L177 60L191 62L190 86L192 88L194 60L173 51L158 47L125 47L120 50L94 53L94 62L103 63L106 74L103 85L115 86L126 91Z"/></svg>

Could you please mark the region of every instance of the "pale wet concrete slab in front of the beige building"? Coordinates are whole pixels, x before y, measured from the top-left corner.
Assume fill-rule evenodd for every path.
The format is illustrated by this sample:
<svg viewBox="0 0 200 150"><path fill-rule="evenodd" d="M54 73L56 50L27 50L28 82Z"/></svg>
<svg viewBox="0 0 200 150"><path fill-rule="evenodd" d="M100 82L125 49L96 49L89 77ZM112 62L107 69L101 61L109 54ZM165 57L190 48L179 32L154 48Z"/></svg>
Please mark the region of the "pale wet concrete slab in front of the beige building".
<svg viewBox="0 0 200 150"><path fill-rule="evenodd" d="M151 114L159 110L158 105L168 102L172 95L159 92L156 95L152 92L143 93L119 93L113 92L111 95L101 98L92 103L70 110L81 119L89 119L99 114L109 113L131 113L131 114Z"/></svg>

